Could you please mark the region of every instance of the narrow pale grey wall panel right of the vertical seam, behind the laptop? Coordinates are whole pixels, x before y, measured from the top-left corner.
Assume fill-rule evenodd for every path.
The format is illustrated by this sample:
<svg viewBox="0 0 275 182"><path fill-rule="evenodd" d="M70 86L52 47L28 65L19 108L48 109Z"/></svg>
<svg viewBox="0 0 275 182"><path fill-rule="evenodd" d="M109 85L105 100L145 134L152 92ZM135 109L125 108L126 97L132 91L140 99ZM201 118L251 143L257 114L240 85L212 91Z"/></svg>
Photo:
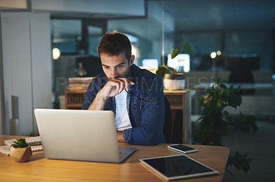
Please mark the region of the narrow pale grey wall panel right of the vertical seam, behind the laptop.
<svg viewBox="0 0 275 182"><path fill-rule="evenodd" d="M32 13L33 109L52 108L52 51L50 32L50 14ZM36 122L34 122L34 133L38 133Z"/></svg>

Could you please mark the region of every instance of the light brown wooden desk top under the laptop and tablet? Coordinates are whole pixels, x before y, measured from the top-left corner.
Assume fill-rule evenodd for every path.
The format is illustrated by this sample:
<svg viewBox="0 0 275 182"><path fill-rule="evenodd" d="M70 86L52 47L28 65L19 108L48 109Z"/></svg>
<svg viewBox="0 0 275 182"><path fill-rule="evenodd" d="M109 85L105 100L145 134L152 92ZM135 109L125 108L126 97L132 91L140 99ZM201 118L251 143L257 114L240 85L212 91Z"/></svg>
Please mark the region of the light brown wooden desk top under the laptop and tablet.
<svg viewBox="0 0 275 182"><path fill-rule="evenodd" d="M3 140L13 138L19 138L19 136L0 135L0 145L3 145ZM120 146L137 148L137 151L122 164L46 159L43 151L34 152L28 162L16 163L10 159L10 156L0 153L0 177L1 181L164 181L143 166L138 159L179 154L169 150L167 145L130 146L129 144L120 144ZM184 181L222 181L229 148L188 146L199 150L197 153L188 154L189 157L218 170L220 174Z"/></svg>

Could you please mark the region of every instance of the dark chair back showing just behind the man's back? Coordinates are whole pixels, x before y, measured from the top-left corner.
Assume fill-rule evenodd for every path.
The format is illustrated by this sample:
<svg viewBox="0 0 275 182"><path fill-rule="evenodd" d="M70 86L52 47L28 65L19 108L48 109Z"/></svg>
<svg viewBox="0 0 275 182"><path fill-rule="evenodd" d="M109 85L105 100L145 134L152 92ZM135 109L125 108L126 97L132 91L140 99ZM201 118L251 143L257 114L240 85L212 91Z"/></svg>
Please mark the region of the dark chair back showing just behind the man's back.
<svg viewBox="0 0 275 182"><path fill-rule="evenodd" d="M165 117L164 117L164 127L163 127L163 132L164 132L164 138L167 143L173 143L172 142L172 112L170 108L170 103L166 96L164 96L164 104L165 104Z"/></svg>

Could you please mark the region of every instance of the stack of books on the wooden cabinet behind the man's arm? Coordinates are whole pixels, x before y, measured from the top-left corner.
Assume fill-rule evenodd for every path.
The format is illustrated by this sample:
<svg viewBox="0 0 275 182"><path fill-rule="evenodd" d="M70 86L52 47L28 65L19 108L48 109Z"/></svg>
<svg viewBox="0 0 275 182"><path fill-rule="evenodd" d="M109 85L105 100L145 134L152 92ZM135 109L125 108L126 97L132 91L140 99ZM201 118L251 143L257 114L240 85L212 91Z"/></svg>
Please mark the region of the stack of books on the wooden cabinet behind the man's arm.
<svg viewBox="0 0 275 182"><path fill-rule="evenodd" d="M79 91L87 90L91 79L94 77L74 77L68 79L67 90Z"/></svg>

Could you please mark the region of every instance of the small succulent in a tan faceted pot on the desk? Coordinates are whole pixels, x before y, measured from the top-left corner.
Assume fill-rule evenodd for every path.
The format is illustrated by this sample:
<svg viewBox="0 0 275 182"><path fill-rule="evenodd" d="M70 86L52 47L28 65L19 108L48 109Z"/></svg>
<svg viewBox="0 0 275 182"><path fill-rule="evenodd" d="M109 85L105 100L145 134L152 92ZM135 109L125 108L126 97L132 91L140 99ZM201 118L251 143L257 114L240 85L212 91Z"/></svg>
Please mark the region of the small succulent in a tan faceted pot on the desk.
<svg viewBox="0 0 275 182"><path fill-rule="evenodd" d="M28 161L32 157L32 148L24 138L17 139L10 147L10 157L16 162Z"/></svg>

